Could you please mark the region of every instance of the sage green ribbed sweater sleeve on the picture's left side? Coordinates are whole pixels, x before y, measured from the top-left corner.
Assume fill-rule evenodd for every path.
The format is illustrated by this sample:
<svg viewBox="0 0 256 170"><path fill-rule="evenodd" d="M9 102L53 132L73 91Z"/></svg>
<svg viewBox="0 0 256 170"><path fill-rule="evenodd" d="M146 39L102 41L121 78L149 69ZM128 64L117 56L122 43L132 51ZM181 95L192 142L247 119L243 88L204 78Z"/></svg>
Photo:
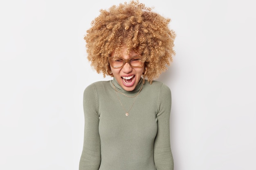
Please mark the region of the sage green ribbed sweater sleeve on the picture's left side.
<svg viewBox="0 0 256 170"><path fill-rule="evenodd" d="M83 151L79 170L99 170L101 164L101 142L99 137L98 100L94 85L86 87L83 94L85 118Z"/></svg>

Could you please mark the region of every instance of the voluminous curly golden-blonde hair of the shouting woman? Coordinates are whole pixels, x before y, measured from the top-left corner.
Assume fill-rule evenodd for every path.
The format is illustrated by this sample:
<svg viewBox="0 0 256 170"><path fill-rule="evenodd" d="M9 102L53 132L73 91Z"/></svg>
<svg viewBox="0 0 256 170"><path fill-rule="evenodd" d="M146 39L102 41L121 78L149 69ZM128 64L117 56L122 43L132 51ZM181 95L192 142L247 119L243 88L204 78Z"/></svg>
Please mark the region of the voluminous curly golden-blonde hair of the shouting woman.
<svg viewBox="0 0 256 170"><path fill-rule="evenodd" d="M101 9L84 37L91 66L97 73L103 73L103 77L113 76L109 74L108 57L125 45L128 51L133 49L142 56L147 68L142 76L152 83L175 55L175 32L168 28L170 21L138 0Z"/></svg>

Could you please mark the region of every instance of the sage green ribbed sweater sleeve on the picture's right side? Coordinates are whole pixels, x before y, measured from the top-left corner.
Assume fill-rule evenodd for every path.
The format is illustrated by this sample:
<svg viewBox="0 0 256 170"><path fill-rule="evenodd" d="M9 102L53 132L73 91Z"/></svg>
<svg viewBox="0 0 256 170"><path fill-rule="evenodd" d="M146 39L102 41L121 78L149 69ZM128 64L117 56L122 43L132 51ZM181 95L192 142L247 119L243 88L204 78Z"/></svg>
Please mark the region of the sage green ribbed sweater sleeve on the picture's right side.
<svg viewBox="0 0 256 170"><path fill-rule="evenodd" d="M157 113L157 135L154 144L154 161L157 170L173 170L170 144L171 90L162 85Z"/></svg>

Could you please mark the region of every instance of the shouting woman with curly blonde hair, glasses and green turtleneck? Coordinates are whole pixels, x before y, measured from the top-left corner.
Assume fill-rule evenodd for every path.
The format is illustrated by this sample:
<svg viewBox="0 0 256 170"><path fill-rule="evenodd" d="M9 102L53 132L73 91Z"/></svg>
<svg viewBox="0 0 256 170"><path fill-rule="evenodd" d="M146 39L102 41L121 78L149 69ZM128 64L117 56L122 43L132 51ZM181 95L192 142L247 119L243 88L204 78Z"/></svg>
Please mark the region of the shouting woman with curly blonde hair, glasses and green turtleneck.
<svg viewBox="0 0 256 170"><path fill-rule="evenodd" d="M153 80L175 54L169 22L138 1L101 10L92 22L88 60L113 80L84 91L79 170L173 170L171 91Z"/></svg>

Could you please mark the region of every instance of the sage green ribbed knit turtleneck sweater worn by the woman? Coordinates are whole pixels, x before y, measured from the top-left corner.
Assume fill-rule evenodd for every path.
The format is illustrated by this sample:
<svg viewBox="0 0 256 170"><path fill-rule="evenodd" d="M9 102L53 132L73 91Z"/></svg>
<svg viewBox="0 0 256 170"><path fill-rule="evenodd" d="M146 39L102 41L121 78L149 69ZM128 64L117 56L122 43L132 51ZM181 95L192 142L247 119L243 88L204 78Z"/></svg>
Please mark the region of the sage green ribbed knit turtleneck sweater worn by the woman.
<svg viewBox="0 0 256 170"><path fill-rule="evenodd" d="M134 96L115 80L99 81L84 91L84 144L79 170L173 170L169 118L171 91L159 81ZM122 107L123 105L123 107ZM129 111L129 116L125 113Z"/></svg>

